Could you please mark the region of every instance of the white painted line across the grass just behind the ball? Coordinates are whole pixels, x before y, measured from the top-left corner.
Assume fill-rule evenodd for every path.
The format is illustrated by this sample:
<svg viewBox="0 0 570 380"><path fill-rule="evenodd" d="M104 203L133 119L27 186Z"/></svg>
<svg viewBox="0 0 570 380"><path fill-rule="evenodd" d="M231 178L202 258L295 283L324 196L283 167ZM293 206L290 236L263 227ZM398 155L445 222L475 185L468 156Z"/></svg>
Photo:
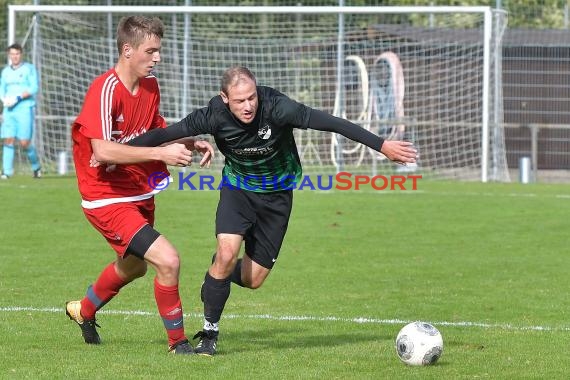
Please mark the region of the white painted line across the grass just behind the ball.
<svg viewBox="0 0 570 380"><path fill-rule="evenodd" d="M57 307L25 307L25 306L5 306L0 307L0 312L28 312L28 313L64 313L63 308ZM100 314L108 315L133 315L144 317L158 317L158 313L142 310L101 310ZM202 318L202 314L190 313L184 314L185 317ZM405 325L413 321L403 319L378 319L378 318L342 318L342 317L316 317L310 315L270 315L270 314L226 314L224 319L265 319L273 321L315 321L315 322L341 322L341 323L358 323L358 324L379 324L379 325ZM570 331L570 327L552 327L552 326L516 326L510 323L483 323L483 322L446 322L446 321L426 321L435 326L450 327L478 327L483 329L501 329L514 331Z"/></svg>

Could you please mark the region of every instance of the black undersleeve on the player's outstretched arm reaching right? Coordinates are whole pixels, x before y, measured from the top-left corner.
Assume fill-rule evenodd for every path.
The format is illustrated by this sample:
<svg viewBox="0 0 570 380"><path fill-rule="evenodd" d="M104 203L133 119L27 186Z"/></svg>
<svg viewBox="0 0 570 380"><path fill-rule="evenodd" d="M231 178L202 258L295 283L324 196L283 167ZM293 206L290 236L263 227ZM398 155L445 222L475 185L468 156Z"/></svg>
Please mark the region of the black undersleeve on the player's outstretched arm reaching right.
<svg viewBox="0 0 570 380"><path fill-rule="evenodd" d="M364 144L378 152L380 152L384 143L383 138L376 136L361 126L316 109L311 109L308 127L318 131L340 133L344 137Z"/></svg>

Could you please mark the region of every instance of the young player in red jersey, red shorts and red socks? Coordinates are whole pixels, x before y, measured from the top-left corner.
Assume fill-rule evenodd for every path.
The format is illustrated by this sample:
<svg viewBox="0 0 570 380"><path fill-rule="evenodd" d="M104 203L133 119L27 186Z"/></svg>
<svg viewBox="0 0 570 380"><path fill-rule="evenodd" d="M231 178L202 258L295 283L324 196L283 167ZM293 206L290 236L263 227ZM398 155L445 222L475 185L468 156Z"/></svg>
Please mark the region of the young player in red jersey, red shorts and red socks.
<svg viewBox="0 0 570 380"><path fill-rule="evenodd" d="M156 17L121 19L117 64L92 82L73 123L81 206L117 258L87 288L81 301L67 302L66 313L79 325L86 343L99 344L96 312L123 286L144 276L150 265L156 271L154 295L169 351L192 354L178 292L180 258L176 248L153 228L154 194L159 187L153 187L151 179L156 173L167 177L166 165L189 165L193 150L203 154L201 166L209 165L213 148L194 139L154 148L124 144L146 131L166 127L159 113L158 83L152 75L160 62L163 30Z"/></svg>

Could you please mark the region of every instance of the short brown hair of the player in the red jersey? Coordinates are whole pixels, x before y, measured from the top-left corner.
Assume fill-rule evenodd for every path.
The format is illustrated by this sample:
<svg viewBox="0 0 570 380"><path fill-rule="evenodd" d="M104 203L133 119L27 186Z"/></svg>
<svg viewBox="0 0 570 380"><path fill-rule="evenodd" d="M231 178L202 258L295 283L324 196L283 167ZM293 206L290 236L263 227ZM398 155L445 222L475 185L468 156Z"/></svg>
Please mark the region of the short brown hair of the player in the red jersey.
<svg viewBox="0 0 570 380"><path fill-rule="evenodd" d="M157 36L162 39L164 24L158 17L127 16L117 26L117 49L122 52L124 44L138 48L146 37Z"/></svg>

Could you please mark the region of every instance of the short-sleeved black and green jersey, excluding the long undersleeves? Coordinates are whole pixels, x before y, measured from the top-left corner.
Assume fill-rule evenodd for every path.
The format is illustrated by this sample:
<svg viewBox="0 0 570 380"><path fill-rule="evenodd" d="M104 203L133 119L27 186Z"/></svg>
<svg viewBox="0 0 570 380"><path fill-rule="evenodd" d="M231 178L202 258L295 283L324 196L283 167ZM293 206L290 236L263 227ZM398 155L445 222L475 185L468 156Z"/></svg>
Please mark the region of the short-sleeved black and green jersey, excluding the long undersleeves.
<svg viewBox="0 0 570 380"><path fill-rule="evenodd" d="M235 118L219 95L179 123L186 136L214 136L225 156L223 181L256 192L283 190L301 180L293 129L307 128L311 108L270 87L257 86L257 96L250 124Z"/></svg>

